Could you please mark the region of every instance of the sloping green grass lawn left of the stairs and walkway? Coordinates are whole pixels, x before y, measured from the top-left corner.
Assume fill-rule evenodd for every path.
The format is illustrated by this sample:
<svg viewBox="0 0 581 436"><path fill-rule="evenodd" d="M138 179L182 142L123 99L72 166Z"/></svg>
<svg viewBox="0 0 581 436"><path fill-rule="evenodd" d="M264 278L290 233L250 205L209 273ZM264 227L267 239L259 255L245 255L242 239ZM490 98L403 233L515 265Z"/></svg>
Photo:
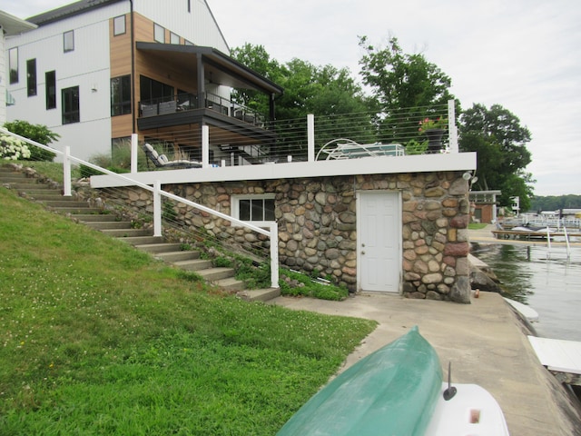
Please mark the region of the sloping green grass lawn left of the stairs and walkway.
<svg viewBox="0 0 581 436"><path fill-rule="evenodd" d="M272 435L374 328L241 302L0 187L2 435Z"/></svg>

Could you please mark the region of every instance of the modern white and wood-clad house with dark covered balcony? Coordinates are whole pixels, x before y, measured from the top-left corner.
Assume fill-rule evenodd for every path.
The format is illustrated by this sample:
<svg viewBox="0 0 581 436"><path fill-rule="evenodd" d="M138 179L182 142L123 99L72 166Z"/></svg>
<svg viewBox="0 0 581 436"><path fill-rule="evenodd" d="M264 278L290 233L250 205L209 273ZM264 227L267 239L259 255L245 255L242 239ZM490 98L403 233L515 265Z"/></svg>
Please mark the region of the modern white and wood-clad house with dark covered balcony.
<svg viewBox="0 0 581 436"><path fill-rule="evenodd" d="M28 21L38 27L6 38L6 116L47 125L56 147L88 160L164 132L176 154L197 158L202 125L269 140L263 115L232 104L231 88L270 95L266 117L282 89L229 56L205 0L82 0ZM184 131L198 139L172 136Z"/></svg>

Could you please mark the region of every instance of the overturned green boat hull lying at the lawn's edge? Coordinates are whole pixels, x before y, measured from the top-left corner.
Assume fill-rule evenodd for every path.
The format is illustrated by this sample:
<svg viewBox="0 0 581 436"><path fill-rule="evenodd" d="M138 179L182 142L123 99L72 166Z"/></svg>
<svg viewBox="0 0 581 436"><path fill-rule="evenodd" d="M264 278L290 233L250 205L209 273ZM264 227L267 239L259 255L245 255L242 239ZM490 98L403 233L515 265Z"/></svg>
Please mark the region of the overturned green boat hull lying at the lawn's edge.
<svg viewBox="0 0 581 436"><path fill-rule="evenodd" d="M438 354L413 327L330 381L277 434L423 435L441 388Z"/></svg>

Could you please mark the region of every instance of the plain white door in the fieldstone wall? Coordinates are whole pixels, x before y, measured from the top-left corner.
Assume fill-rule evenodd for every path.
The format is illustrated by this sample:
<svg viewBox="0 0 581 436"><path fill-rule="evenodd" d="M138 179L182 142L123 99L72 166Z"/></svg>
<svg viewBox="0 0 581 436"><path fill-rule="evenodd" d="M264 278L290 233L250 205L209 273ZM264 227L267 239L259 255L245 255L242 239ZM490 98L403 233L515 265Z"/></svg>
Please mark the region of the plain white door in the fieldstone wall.
<svg viewBox="0 0 581 436"><path fill-rule="evenodd" d="M399 193L359 192L357 265L361 291L399 292L401 212Z"/></svg>

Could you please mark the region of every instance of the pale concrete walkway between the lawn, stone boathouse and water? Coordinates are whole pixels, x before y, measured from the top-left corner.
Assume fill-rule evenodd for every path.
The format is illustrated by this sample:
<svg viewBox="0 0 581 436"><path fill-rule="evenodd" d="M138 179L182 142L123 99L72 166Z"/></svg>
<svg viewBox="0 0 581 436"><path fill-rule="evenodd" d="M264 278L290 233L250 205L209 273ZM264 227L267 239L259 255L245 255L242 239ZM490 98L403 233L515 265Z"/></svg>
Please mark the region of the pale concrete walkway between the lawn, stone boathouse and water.
<svg viewBox="0 0 581 436"><path fill-rule="evenodd" d="M480 292L471 304L382 293L361 294L344 302L278 297L271 303L379 322L343 369L418 325L438 352L445 373L452 362L453 381L479 384L492 393L511 436L581 435L578 402L538 362L524 327L497 293Z"/></svg>

